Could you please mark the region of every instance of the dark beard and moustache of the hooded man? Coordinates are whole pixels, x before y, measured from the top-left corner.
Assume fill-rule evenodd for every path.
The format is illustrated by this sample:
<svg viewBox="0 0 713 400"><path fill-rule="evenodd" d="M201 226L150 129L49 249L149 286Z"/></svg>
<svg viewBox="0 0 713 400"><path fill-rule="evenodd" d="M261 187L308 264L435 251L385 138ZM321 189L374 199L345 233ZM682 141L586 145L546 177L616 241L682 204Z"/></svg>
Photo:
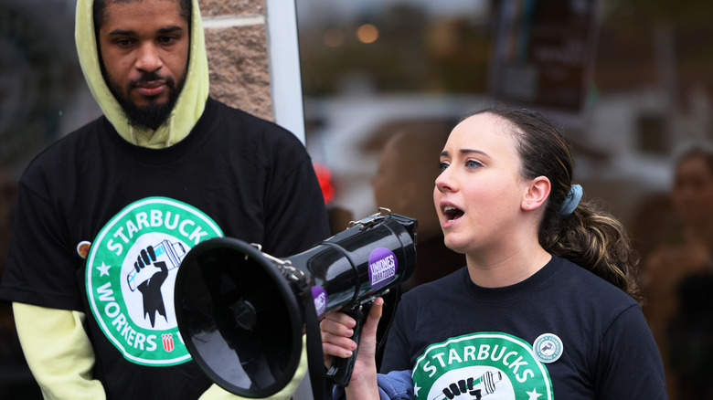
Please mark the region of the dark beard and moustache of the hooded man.
<svg viewBox="0 0 713 400"><path fill-rule="evenodd" d="M164 104L151 103L146 106L137 106L129 100L129 93L135 88L136 84L139 82L147 82L151 80L165 80L165 85L168 89L168 100ZM107 79L109 82L109 89L112 90L112 94L119 101L122 106L124 113L126 113L126 118L129 120L129 125L140 128L140 129L150 129L152 131L157 130L162 125L168 121L168 117L171 115L171 111L174 110L176 106L176 100L178 100L178 94L180 94L181 89L183 89L183 80L179 82L178 87L176 87L176 81L172 78L162 77L155 72L147 72L142 75L140 79L132 80L127 85L125 90L126 97L119 95L118 85L115 85L111 79Z"/></svg>

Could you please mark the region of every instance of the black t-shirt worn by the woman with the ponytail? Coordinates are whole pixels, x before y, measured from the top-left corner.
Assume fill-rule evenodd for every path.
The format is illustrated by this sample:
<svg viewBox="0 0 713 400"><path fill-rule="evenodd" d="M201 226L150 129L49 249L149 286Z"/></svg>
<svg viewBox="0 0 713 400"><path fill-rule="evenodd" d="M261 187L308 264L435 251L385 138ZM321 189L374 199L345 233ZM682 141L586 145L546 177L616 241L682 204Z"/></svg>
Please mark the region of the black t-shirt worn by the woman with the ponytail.
<svg viewBox="0 0 713 400"><path fill-rule="evenodd" d="M666 398L639 305L558 257L505 288L478 287L463 268L405 293L381 366L401 370L417 399Z"/></svg>

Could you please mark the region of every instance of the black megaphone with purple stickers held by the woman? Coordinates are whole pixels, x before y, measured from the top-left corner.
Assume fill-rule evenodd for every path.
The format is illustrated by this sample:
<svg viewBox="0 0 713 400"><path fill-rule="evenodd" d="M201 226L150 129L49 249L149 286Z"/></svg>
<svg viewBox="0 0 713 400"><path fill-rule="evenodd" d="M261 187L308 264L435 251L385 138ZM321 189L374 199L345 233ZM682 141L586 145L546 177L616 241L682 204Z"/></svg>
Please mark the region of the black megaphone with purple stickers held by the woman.
<svg viewBox="0 0 713 400"><path fill-rule="evenodd" d="M235 395L279 392L300 362L308 301L318 316L351 310L409 279L416 227L380 209L287 258L231 237L198 243L176 274L176 320L188 352ZM346 374L333 367L331 375L335 369Z"/></svg>

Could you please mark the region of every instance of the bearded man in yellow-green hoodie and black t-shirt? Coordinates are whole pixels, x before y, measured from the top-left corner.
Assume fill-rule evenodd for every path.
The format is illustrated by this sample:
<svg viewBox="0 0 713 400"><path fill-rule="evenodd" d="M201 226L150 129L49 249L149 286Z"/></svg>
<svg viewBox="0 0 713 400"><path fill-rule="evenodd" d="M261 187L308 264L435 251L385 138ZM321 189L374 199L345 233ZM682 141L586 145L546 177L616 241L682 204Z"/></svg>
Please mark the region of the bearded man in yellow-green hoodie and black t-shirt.
<svg viewBox="0 0 713 400"><path fill-rule="evenodd" d="M0 299L46 398L230 397L179 336L176 272L210 237L276 257L327 237L310 157L208 97L197 0L79 0L76 17L103 116L23 174Z"/></svg>

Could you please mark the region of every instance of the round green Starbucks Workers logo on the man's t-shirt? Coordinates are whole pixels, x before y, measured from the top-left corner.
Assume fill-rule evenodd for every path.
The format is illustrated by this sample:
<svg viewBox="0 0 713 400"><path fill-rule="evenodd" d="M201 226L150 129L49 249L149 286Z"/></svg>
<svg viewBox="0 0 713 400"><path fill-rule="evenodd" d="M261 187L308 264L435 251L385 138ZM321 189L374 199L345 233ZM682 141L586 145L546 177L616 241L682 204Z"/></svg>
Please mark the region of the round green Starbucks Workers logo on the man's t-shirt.
<svg viewBox="0 0 713 400"><path fill-rule="evenodd" d="M190 360L174 310L177 268L191 247L222 236L210 217L165 197L137 201L101 229L87 258L87 295L126 359L154 366Z"/></svg>

